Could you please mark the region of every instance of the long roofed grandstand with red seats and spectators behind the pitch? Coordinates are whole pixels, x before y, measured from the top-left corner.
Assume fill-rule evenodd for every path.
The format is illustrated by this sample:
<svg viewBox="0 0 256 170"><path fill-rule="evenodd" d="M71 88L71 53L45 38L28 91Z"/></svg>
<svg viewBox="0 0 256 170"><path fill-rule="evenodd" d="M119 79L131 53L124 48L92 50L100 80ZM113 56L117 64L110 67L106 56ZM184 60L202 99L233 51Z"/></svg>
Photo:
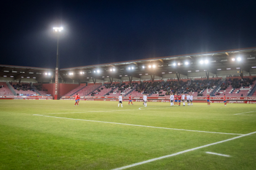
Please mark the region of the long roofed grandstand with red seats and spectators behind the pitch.
<svg viewBox="0 0 256 170"><path fill-rule="evenodd" d="M143 93L168 97L171 92L192 92L194 97L250 97L256 95L255 57L256 47L252 47L61 68L57 88L51 68L0 65L0 81L12 83L9 90L1 89L1 94L54 96L57 89L58 99L75 93L114 98L120 94L141 97Z"/></svg>

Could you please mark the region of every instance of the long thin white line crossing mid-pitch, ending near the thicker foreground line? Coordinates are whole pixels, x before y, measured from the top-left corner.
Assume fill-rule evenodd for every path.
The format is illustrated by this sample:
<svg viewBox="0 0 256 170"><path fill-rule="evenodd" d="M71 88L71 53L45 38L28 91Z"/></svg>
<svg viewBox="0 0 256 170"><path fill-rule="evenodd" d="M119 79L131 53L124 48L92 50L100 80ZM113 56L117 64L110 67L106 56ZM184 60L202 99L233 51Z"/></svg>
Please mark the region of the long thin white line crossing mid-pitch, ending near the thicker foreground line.
<svg viewBox="0 0 256 170"><path fill-rule="evenodd" d="M138 125L138 124L115 123L115 122L109 122L109 121L94 121L94 120L87 120L87 119L63 118L63 117L57 117L57 116L46 116L46 115L34 115L34 116L45 116L45 117L49 117L49 118L61 118L61 119L92 121L92 122L100 122L100 123L122 124L122 125L128 125L128 126L151 127L151 128L158 128L158 129L172 129L172 130L177 130L177 131L192 131L192 132L205 132L205 133L213 133L213 134L243 135L243 134L233 134L233 133L224 133L224 132L195 131L195 130L187 130L187 129L174 129L174 128L169 128L169 127L156 127L156 126L144 126L144 125Z"/></svg>

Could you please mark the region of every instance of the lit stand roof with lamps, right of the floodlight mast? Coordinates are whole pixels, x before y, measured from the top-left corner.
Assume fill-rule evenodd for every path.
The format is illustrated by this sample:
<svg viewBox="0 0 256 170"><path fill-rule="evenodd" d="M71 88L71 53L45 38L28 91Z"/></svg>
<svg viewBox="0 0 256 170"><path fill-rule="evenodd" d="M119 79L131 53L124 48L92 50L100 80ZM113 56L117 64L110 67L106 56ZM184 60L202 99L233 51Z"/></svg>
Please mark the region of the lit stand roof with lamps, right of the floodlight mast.
<svg viewBox="0 0 256 170"><path fill-rule="evenodd" d="M256 47L250 47L62 68L60 71L62 76L85 76L97 79L106 77L121 78L122 76L140 77L142 75L162 76L168 73L187 75L189 72L202 71L216 74L218 70L237 69L249 72L250 68L256 67L255 58Z"/></svg>

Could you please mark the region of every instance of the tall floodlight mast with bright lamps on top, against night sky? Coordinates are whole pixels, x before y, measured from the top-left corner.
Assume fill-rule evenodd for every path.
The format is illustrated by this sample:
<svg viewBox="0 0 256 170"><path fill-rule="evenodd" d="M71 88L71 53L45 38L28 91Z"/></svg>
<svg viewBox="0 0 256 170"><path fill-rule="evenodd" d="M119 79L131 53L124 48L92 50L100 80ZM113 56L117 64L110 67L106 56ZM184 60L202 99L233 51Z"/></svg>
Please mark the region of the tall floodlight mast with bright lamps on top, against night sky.
<svg viewBox="0 0 256 170"><path fill-rule="evenodd" d="M58 83L59 83L59 33L63 30L63 27L54 27L54 32L57 33L57 60L55 69L55 85L54 85L54 100L58 100Z"/></svg>

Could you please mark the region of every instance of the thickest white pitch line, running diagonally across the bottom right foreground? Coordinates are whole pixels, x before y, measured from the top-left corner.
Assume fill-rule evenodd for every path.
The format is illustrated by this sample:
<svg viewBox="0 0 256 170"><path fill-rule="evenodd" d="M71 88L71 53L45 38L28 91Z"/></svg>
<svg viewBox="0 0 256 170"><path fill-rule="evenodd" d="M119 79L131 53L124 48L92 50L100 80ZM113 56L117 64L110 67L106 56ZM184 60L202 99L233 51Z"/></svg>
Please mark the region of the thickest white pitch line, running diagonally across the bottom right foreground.
<svg viewBox="0 0 256 170"><path fill-rule="evenodd" d="M221 143L223 143L223 142L228 142L228 141L230 141L230 140L238 139L238 138L244 137L244 136L249 136L249 135L255 134L255 133L256 133L256 132L251 132L251 133L249 133L249 134L244 134L244 135L242 135L242 136L237 136L237 137L233 137L233 138L231 138L231 139L221 140L220 142L215 142L215 143L212 143L212 144L203 145L203 146L201 146L201 147L191 148L191 149L184 150L184 151L181 151L181 152L173 153L173 154L171 154L171 155L165 155L165 156L161 156L161 157L158 157L158 158L153 158L153 159L151 159L151 160L142 161L142 162L139 162L139 163L134 163L134 164L130 164L130 165L127 165L127 166L122 166L121 168L116 168L116 169L112 169L112 170L121 170L121 169L131 168L131 167L134 167L134 166L138 166L138 165L140 165L140 164L150 163L150 162L157 161L157 160L161 160L161 159L164 159L164 158L169 158L169 157L171 157L171 156L180 155L180 154L182 154L182 153L186 153L186 152L198 150L198 149L200 149L200 148L210 147L211 145L221 144Z"/></svg>

